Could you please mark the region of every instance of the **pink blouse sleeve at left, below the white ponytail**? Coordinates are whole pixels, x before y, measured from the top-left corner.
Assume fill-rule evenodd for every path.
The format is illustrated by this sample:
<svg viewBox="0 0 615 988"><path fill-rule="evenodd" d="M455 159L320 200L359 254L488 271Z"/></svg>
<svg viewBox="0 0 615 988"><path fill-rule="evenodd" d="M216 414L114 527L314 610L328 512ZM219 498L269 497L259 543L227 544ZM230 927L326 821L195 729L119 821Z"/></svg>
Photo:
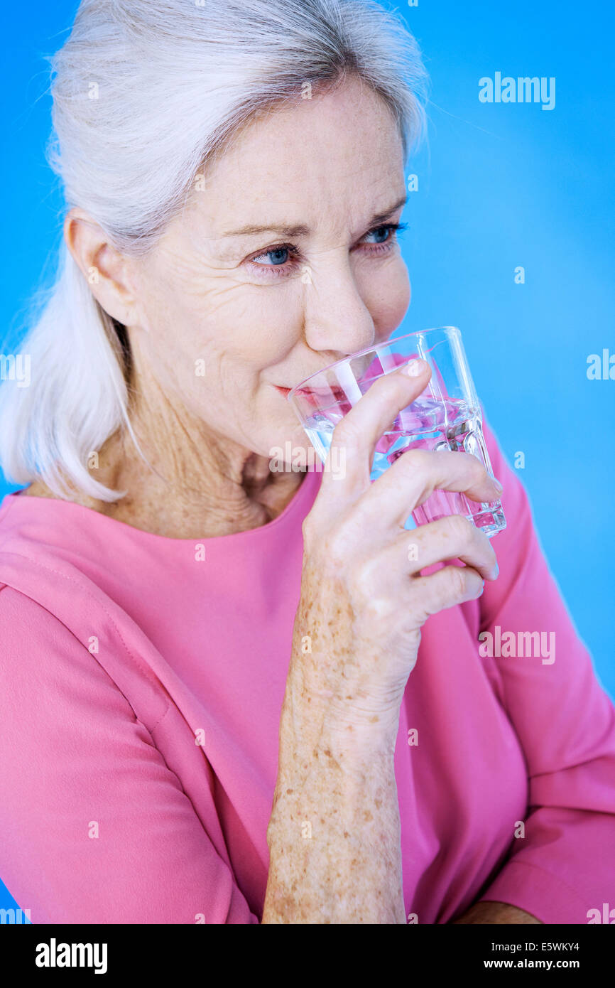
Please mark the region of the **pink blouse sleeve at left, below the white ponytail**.
<svg viewBox="0 0 615 988"><path fill-rule="evenodd" d="M113 680L2 584L0 833L34 924L259 922Z"/></svg>

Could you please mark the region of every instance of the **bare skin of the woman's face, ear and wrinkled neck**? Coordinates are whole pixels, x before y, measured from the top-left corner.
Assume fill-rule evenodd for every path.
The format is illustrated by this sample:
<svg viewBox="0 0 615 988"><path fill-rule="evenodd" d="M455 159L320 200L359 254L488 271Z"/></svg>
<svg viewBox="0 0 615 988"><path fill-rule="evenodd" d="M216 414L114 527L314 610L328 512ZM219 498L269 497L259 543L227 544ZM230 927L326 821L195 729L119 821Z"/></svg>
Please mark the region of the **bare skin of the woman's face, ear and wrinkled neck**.
<svg viewBox="0 0 615 988"><path fill-rule="evenodd" d="M84 275L98 270L92 293L126 327L131 422L155 471L118 430L93 472L126 497L73 500L175 538L249 531L284 509L303 474L272 470L271 451L313 450L274 385L388 339L411 296L395 234L384 250L371 223L406 194L401 137L353 76L247 124L204 176L144 257L119 253L83 209L64 227ZM273 223L309 232L226 235ZM297 253L279 265L271 251L285 243ZM54 496L41 483L30 493Z"/></svg>

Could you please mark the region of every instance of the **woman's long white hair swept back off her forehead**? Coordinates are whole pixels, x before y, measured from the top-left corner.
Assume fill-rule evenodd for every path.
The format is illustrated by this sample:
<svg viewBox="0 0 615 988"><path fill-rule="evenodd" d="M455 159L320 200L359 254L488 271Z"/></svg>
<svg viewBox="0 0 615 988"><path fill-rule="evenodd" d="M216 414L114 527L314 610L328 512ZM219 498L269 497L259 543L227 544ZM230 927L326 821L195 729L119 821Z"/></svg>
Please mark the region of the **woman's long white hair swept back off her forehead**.
<svg viewBox="0 0 615 988"><path fill-rule="evenodd" d="M404 164L426 130L419 46L376 0L82 0L48 60L47 159L66 210L85 209L133 257L155 245L241 126L306 84L358 75L392 111ZM116 501L125 491L97 481L88 460L120 427L136 443L130 350L88 283L62 239L22 346L32 381L0 387L0 465L60 498L68 480Z"/></svg>

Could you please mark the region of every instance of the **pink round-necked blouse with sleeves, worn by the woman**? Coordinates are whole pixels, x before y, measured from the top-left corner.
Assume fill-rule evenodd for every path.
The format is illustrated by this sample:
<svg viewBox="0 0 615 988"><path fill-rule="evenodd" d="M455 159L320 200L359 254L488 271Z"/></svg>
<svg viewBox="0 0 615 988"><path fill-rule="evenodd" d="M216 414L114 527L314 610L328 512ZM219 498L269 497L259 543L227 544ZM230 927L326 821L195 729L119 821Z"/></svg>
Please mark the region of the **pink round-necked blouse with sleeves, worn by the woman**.
<svg viewBox="0 0 615 988"><path fill-rule="evenodd" d="M428 618L402 704L406 913L450 923L484 898L587 923L615 907L615 709L486 439L500 576ZM301 523L321 479L268 525L201 540L4 498L0 875L33 923L261 921Z"/></svg>

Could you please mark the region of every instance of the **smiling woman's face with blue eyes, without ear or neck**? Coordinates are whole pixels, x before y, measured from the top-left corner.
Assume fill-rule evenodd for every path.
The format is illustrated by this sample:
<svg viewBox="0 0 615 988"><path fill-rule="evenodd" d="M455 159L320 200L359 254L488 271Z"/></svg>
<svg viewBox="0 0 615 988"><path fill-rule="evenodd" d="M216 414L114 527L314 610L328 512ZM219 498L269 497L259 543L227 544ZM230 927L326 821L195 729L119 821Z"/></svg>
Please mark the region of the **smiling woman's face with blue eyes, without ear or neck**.
<svg viewBox="0 0 615 988"><path fill-rule="evenodd" d="M401 138L352 77L251 124L200 184L134 262L137 367L221 437L296 454L309 443L278 387L387 339L410 303L387 225L406 199Z"/></svg>

